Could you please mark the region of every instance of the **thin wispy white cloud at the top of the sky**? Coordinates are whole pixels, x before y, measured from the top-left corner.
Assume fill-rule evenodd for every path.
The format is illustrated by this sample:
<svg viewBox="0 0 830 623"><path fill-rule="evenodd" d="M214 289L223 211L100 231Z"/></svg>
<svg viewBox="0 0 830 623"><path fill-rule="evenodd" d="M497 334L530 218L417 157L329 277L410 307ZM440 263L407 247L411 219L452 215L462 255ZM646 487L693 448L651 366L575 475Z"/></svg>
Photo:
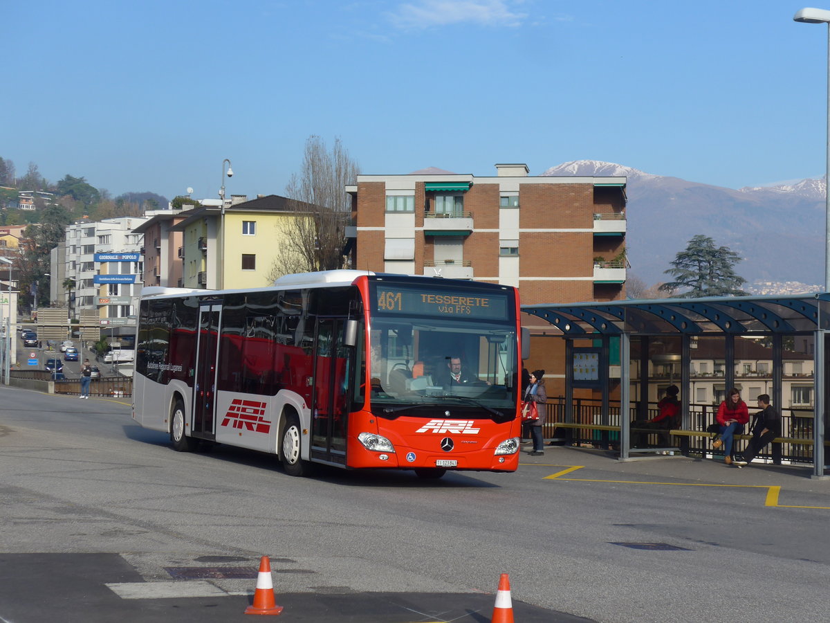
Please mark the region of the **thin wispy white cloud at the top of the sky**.
<svg viewBox="0 0 830 623"><path fill-rule="evenodd" d="M510 10L507 0L417 0L389 15L399 28L428 28L474 23L481 26L520 26L526 13Z"/></svg>

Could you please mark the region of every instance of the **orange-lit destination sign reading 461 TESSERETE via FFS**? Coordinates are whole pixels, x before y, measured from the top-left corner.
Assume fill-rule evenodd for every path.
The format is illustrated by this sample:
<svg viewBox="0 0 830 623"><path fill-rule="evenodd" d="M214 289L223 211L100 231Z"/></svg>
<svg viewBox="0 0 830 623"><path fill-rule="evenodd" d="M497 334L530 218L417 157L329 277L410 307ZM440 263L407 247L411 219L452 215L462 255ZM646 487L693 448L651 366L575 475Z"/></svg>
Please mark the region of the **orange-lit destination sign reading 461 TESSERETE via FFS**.
<svg viewBox="0 0 830 623"><path fill-rule="evenodd" d="M481 319L505 319L507 296L491 293L431 292L399 286L377 286L375 312L427 316L464 316Z"/></svg>

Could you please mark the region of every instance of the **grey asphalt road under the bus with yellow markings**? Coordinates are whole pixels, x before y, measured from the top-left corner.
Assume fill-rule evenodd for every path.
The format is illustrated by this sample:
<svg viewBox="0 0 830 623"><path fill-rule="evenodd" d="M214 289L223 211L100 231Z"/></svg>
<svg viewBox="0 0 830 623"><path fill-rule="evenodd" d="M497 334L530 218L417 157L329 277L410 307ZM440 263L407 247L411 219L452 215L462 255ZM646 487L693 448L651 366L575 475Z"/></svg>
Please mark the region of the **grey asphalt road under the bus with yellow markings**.
<svg viewBox="0 0 830 623"><path fill-rule="evenodd" d="M285 621L483 623L501 572L516 621L825 621L809 473L551 448L514 474L291 478L2 387L0 622L242 620L263 555Z"/></svg>

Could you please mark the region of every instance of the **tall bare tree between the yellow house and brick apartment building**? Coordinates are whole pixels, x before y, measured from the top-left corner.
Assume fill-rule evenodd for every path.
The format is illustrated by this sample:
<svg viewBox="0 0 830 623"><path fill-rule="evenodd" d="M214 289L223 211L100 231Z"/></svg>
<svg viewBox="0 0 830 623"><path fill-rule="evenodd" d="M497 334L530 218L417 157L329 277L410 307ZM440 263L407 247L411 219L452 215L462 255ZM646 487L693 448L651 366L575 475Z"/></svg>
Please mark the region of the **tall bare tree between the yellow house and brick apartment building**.
<svg viewBox="0 0 830 623"><path fill-rule="evenodd" d="M269 280L291 272L325 271L344 265L345 227L351 204L345 187L359 174L339 139L328 151L320 136L305 141L300 174L286 186L289 209L295 218L281 224L284 241L277 250Z"/></svg>

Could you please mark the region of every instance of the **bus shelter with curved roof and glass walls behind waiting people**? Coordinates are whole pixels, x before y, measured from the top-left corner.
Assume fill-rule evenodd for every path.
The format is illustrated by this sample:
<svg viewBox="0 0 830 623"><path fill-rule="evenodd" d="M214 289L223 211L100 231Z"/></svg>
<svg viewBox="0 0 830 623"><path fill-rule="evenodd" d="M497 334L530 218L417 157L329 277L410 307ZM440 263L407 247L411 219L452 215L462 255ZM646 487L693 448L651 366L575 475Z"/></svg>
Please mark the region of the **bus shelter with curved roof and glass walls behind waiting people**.
<svg viewBox="0 0 830 623"><path fill-rule="evenodd" d="M737 387L750 414L761 394L782 414L783 435L793 443L773 444L772 459L812 463L813 477L823 477L830 294L521 309L549 322L565 340L564 400L557 417L574 422L574 395L593 395L597 409L588 424L604 428L605 439L608 429L618 428L620 459L632 453L632 420L647 419L668 385L681 389L681 428L689 434L705 430L726 392ZM705 452L706 439L698 441Z"/></svg>

